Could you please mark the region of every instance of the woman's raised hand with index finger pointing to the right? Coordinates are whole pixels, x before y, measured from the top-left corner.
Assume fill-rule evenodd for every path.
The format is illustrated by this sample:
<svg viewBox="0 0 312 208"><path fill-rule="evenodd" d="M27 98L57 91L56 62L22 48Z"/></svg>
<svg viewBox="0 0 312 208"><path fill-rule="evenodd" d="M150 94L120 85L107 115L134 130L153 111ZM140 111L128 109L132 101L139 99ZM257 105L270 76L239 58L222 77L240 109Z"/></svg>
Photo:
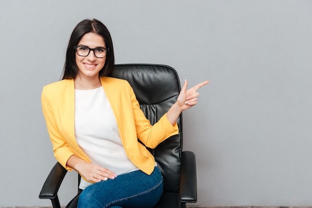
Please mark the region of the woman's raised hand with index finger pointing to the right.
<svg viewBox="0 0 312 208"><path fill-rule="evenodd" d="M197 98L199 97L199 93L196 92L196 90L207 85L208 83L209 81L204 81L187 90L187 80L185 80L182 90L177 98L177 104L180 110L186 110L191 106L197 104Z"/></svg>

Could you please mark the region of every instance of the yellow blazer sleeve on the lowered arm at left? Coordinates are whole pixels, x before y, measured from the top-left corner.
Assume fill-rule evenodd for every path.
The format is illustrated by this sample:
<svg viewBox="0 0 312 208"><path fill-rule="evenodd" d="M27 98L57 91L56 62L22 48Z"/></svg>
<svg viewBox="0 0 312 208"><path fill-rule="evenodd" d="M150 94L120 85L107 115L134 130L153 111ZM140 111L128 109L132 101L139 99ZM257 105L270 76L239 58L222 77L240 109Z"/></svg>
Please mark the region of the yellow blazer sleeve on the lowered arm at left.
<svg viewBox="0 0 312 208"><path fill-rule="evenodd" d="M53 145L54 157L64 168L71 171L72 169L66 166L66 163L69 157L74 155L74 152L71 150L58 128L55 112L53 112L46 87L42 90L41 104L47 130Z"/></svg>

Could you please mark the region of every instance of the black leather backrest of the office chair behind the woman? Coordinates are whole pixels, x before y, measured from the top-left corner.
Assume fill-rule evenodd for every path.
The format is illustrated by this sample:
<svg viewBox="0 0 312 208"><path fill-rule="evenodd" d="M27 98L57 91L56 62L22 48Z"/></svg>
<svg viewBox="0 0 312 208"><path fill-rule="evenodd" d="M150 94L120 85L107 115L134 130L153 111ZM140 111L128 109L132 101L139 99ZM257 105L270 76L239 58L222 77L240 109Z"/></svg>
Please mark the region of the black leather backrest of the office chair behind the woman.
<svg viewBox="0 0 312 208"><path fill-rule="evenodd" d="M115 66L112 77L127 80L132 86L141 109L152 124L168 111L180 93L176 71L164 65L121 64ZM164 180L164 192L179 193L180 156L182 150L182 115L177 120L179 133L155 149L154 155Z"/></svg>

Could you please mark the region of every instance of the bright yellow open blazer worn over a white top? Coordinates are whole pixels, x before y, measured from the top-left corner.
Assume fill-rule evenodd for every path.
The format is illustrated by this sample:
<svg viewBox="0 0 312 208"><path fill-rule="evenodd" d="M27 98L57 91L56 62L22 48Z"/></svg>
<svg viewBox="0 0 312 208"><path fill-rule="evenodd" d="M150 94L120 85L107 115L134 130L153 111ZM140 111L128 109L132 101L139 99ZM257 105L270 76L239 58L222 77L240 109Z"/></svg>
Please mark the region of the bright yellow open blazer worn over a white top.
<svg viewBox="0 0 312 208"><path fill-rule="evenodd" d="M126 80L101 77L105 94L116 117L120 137L129 159L143 172L151 174L155 159L147 147L155 148L160 142L178 133L178 127L168 121L166 114L151 125ZM43 115L57 161L66 166L70 156L91 162L75 139L75 87L74 80L62 80L43 87L41 95Z"/></svg>

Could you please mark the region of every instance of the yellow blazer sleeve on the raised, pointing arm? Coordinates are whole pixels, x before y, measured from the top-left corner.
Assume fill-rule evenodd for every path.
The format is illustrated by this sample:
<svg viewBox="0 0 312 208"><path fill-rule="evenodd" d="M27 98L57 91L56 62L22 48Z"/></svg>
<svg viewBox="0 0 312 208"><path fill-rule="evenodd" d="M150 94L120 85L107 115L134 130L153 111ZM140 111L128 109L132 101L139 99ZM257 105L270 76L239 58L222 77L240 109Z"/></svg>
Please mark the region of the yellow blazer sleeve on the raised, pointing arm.
<svg viewBox="0 0 312 208"><path fill-rule="evenodd" d="M131 87L130 87L131 88ZM132 106L134 111L137 136L147 147L156 148L156 146L168 137L178 134L178 126L172 124L167 119L166 113L154 124L146 118L140 108L133 89L130 90Z"/></svg>

